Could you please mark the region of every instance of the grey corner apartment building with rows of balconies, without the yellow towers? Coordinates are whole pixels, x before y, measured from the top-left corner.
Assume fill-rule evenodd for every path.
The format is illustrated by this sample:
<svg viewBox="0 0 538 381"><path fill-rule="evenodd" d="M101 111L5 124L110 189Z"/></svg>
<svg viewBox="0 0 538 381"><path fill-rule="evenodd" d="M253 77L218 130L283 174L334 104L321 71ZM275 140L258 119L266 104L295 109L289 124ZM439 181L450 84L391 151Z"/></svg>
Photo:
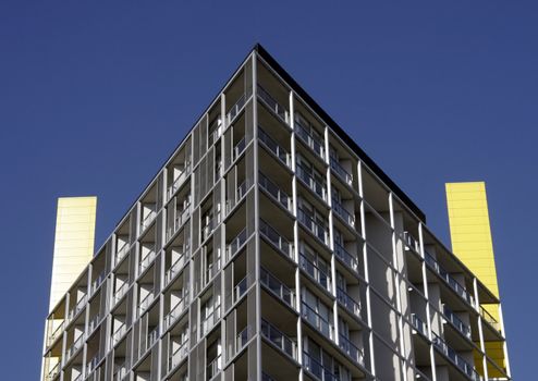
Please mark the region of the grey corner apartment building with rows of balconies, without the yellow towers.
<svg viewBox="0 0 538 381"><path fill-rule="evenodd" d="M258 45L51 308L42 380L509 380L503 332L499 297Z"/></svg>

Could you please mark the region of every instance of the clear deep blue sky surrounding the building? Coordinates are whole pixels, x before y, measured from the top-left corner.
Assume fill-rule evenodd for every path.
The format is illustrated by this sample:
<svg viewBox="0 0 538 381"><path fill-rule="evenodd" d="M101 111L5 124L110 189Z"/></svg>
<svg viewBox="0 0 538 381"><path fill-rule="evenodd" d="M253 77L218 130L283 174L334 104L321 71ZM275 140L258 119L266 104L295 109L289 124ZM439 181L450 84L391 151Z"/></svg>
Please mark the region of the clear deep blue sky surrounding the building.
<svg viewBox="0 0 538 381"><path fill-rule="evenodd" d="M443 184L487 182L513 374L535 379L537 3L0 3L0 379L38 378L57 197L99 197L100 245L257 41L445 242Z"/></svg>

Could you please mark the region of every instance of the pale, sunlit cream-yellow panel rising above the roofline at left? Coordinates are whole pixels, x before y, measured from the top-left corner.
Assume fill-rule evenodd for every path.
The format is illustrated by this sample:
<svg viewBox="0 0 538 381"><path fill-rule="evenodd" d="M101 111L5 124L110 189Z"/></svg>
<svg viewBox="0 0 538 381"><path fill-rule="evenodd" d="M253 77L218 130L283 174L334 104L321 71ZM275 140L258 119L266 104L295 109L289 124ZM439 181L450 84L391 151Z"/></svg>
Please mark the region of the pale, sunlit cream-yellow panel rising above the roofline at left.
<svg viewBox="0 0 538 381"><path fill-rule="evenodd" d="M58 199L50 304L52 309L94 255L97 197Z"/></svg>

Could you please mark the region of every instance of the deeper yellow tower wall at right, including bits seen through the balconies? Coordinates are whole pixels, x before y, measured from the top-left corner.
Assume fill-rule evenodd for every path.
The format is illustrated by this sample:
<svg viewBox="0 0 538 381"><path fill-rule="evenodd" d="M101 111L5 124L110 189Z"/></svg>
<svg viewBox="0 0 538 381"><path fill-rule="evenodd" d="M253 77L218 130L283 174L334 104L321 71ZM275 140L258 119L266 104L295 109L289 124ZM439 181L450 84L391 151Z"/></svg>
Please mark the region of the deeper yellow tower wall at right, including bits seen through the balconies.
<svg viewBox="0 0 538 381"><path fill-rule="evenodd" d="M499 297L486 184L448 183L445 188L452 251ZM482 307L499 321L498 305ZM501 342L486 343L486 353L501 367L504 365ZM490 366L488 374L501 376Z"/></svg>

